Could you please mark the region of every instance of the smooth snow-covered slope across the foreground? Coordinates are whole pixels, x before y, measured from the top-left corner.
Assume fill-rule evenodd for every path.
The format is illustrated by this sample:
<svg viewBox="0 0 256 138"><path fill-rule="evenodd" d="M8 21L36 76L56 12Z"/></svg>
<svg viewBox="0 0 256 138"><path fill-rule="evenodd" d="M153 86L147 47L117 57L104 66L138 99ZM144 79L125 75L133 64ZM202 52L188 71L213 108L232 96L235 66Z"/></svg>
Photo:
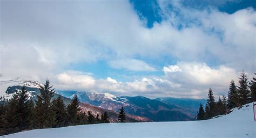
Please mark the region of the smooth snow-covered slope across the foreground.
<svg viewBox="0 0 256 138"><path fill-rule="evenodd" d="M256 137L252 103L222 117L204 121L140 122L80 125L52 129L35 129L3 136L5 138L64 138L64 137Z"/></svg>

